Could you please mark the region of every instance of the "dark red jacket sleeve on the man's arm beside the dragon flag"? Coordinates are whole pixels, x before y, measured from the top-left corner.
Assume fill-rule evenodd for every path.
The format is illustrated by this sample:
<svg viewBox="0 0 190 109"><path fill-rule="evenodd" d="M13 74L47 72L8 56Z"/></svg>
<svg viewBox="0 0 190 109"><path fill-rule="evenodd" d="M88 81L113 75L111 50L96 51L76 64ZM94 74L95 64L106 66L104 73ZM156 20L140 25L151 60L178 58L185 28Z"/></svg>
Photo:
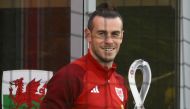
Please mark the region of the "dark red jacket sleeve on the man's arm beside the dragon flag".
<svg viewBox="0 0 190 109"><path fill-rule="evenodd" d="M71 109L83 88L83 70L69 65L49 81L40 109Z"/></svg>

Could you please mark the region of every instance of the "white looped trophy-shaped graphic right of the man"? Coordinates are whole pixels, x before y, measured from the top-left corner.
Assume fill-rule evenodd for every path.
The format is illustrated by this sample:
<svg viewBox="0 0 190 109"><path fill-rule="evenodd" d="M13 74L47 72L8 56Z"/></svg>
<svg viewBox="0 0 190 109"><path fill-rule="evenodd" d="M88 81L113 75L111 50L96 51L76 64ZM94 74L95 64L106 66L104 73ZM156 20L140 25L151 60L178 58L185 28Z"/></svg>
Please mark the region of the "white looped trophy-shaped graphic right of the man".
<svg viewBox="0 0 190 109"><path fill-rule="evenodd" d="M135 81L135 73L136 73L136 70L138 69L142 71L142 75L143 75L143 82L140 89L140 93L137 89L137 85ZM135 60L129 68L128 80L129 80L129 86L130 86L130 89L135 101L134 109L145 109L144 101L145 101L145 98L146 98L146 95L148 93L150 83L151 83L151 69L148 62L142 59Z"/></svg>

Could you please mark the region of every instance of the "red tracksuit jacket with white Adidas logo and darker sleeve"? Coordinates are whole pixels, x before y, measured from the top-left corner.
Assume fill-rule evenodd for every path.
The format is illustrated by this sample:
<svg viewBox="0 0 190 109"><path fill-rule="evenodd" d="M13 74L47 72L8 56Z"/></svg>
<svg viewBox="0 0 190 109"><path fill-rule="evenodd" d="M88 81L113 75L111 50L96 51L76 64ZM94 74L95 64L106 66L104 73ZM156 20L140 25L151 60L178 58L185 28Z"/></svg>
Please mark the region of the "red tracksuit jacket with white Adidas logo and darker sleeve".
<svg viewBox="0 0 190 109"><path fill-rule="evenodd" d="M128 100L116 66L103 68L90 53L59 70L47 88L40 109L126 109Z"/></svg>

